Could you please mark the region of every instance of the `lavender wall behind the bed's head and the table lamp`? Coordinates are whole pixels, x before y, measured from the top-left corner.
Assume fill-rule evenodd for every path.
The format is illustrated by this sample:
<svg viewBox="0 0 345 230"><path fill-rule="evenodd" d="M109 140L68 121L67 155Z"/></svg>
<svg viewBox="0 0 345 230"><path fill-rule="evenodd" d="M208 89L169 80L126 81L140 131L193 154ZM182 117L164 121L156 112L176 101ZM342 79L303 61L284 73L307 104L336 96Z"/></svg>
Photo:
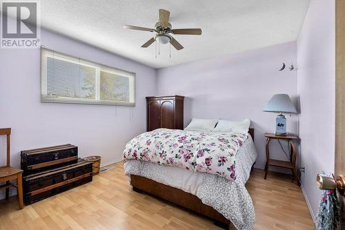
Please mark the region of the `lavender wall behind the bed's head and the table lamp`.
<svg viewBox="0 0 345 230"><path fill-rule="evenodd" d="M263 108L275 93L297 94L297 71L279 72L282 62L296 62L296 43L288 43L237 55L195 61L157 70L157 93L186 96L186 126L192 117L252 120L258 168L264 168L265 132L275 131L275 113ZM288 131L297 133L297 116L287 116ZM272 143L273 157L287 160ZM277 151L274 151L277 150Z"/></svg>

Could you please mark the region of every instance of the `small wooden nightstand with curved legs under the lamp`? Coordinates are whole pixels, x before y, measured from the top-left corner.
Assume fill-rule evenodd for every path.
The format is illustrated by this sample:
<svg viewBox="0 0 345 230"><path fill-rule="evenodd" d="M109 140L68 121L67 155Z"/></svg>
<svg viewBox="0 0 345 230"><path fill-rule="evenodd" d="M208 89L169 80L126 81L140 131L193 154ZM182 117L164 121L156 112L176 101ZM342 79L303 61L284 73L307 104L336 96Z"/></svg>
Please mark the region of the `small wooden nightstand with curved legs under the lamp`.
<svg viewBox="0 0 345 230"><path fill-rule="evenodd" d="M274 133L265 133L266 139L266 166L265 166L265 180L267 177L268 173L268 167L271 166L279 166L287 169L291 169L293 171L293 179L296 180L297 185L300 186L301 184L299 183L298 180L298 174L297 174L297 169L296 169L296 160L297 160L297 148L295 143L293 142L294 140L299 140L299 137L297 135L293 134L288 134L286 136L280 136L280 135L275 135ZM270 140L275 139L275 140L286 140L290 144L290 162L284 161L284 160L273 160L270 159L270 150L269 150L269 144Z"/></svg>

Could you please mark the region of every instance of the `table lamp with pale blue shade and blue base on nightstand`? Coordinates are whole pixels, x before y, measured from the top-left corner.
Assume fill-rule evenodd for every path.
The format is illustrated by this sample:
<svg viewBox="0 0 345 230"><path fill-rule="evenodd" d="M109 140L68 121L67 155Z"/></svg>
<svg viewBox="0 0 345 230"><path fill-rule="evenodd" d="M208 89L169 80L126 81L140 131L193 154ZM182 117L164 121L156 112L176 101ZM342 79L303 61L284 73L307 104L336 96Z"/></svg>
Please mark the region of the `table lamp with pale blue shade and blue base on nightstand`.
<svg viewBox="0 0 345 230"><path fill-rule="evenodd" d="M279 113L275 119L275 135L287 135L286 118L283 113L297 113L293 102L287 94L275 94L264 108L265 112Z"/></svg>

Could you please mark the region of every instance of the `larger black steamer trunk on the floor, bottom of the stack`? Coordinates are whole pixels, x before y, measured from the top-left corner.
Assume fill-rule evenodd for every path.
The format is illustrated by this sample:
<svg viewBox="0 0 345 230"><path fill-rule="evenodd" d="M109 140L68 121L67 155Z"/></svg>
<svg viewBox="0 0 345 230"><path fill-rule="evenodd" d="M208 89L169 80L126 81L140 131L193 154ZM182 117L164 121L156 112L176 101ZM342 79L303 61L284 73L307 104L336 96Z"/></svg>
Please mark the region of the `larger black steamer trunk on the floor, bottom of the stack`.
<svg viewBox="0 0 345 230"><path fill-rule="evenodd" d="M52 195L92 181L92 162L79 159L77 164L23 177L25 204L32 204Z"/></svg>

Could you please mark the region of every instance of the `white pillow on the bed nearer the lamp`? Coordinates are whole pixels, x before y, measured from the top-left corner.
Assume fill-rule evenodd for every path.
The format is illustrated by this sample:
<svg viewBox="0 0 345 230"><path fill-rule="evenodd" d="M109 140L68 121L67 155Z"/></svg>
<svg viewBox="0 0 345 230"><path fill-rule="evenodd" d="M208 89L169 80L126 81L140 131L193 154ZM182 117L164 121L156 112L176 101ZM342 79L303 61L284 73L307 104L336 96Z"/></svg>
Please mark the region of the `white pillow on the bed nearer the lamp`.
<svg viewBox="0 0 345 230"><path fill-rule="evenodd" d="M250 119L245 119L243 122L231 122L225 119L220 119L213 132L220 133L248 133L250 126Z"/></svg>

